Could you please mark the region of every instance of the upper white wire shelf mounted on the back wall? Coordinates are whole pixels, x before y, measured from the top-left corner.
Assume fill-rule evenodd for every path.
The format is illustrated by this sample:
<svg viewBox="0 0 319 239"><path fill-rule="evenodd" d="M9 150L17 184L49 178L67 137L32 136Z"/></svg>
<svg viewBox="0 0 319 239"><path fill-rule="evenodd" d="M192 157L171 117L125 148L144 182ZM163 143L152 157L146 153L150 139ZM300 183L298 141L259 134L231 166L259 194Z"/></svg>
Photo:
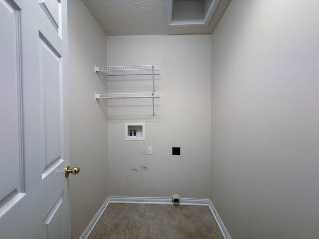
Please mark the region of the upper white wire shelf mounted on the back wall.
<svg viewBox="0 0 319 239"><path fill-rule="evenodd" d="M160 75L160 66L95 66L95 72L98 71L104 72L108 76Z"/></svg>

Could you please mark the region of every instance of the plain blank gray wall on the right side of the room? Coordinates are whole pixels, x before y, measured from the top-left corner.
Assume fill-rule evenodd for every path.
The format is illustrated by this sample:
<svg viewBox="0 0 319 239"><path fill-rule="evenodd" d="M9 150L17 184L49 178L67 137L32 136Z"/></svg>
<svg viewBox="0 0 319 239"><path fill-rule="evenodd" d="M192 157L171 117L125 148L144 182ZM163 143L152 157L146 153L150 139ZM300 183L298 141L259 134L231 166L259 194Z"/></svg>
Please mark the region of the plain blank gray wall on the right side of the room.
<svg viewBox="0 0 319 239"><path fill-rule="evenodd" d="M233 239L319 238L318 12L232 0L212 34L210 199Z"/></svg>

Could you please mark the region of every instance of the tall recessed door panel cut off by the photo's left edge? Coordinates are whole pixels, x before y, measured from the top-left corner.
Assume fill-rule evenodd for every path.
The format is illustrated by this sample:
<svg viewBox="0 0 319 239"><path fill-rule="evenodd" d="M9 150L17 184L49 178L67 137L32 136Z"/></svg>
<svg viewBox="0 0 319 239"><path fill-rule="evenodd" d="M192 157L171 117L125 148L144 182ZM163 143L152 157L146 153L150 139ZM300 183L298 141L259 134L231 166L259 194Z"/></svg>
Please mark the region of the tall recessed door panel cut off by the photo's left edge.
<svg viewBox="0 0 319 239"><path fill-rule="evenodd" d="M0 216L17 200L23 189L21 148L21 91L19 9L0 0ZM4 62L5 61L5 62ZM6 159L6 160L3 160ZM12 170L14 169L14 170Z"/></svg>

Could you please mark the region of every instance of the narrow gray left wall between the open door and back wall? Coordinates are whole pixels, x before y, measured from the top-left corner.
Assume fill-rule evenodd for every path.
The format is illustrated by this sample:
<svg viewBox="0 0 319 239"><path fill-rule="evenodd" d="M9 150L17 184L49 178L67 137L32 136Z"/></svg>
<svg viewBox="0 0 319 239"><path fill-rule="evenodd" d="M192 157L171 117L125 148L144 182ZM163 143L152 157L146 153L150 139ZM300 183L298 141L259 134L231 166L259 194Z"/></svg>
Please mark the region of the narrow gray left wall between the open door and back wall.
<svg viewBox="0 0 319 239"><path fill-rule="evenodd" d="M108 197L106 104L94 93L105 82L94 65L106 65L106 36L80 0L68 1L72 238L78 239ZM102 80L101 80L102 79Z"/></svg>

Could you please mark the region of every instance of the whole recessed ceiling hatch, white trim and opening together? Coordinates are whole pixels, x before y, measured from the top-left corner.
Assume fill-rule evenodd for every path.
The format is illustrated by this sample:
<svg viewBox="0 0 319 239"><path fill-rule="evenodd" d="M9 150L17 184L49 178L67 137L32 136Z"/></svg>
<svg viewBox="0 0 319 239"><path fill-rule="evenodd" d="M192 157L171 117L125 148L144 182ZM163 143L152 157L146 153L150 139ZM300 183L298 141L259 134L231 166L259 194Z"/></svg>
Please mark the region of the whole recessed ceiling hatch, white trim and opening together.
<svg viewBox="0 0 319 239"><path fill-rule="evenodd" d="M165 0L165 26L207 26L219 0Z"/></svg>

